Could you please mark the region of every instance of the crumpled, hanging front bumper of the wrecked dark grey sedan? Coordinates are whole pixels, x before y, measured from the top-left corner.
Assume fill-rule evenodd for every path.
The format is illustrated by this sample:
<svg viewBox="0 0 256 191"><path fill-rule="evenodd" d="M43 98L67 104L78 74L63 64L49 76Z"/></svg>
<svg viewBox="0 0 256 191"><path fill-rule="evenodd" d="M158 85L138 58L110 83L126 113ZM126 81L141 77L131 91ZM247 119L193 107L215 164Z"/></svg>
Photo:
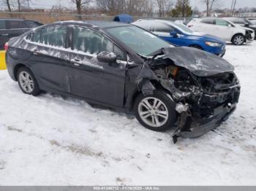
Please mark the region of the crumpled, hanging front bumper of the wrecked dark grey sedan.
<svg viewBox="0 0 256 191"><path fill-rule="evenodd" d="M179 103L180 105L177 108L177 104L176 111L180 113L180 117L177 121L176 131L173 133L173 142L176 143L178 137L189 139L197 138L217 128L236 110L239 95L240 86L235 87L229 94L223 93L218 97L202 96L200 100L204 99L204 103L208 103L209 108L211 108L211 104L213 104L214 101L222 102L221 106L210 109L211 114L206 114L205 111L195 112L192 108L189 109L188 104L182 105ZM206 114L206 117L202 117L200 114Z"/></svg>

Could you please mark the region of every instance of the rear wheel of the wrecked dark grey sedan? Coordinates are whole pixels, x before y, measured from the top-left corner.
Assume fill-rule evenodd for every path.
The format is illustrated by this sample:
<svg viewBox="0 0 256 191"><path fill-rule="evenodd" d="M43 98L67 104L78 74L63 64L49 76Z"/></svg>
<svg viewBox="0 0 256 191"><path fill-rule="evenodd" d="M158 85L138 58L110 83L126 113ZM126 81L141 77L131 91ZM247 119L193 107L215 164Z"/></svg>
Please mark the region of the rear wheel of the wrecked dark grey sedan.
<svg viewBox="0 0 256 191"><path fill-rule="evenodd" d="M29 95L39 95L40 90L37 84L37 79L34 74L27 67L20 67L17 72L18 85L23 93Z"/></svg>

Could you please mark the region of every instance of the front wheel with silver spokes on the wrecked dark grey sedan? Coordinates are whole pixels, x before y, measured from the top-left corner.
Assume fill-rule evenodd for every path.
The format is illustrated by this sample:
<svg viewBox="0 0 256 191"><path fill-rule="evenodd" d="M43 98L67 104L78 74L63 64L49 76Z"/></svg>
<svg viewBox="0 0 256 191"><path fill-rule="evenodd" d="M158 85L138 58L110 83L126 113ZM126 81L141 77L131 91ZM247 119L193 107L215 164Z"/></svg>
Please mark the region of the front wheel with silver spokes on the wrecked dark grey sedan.
<svg viewBox="0 0 256 191"><path fill-rule="evenodd" d="M150 107L146 103L150 104ZM144 127L154 131L164 131L173 127L176 122L175 108L176 104L163 90L155 90L153 95L140 94L134 104L137 120Z"/></svg>

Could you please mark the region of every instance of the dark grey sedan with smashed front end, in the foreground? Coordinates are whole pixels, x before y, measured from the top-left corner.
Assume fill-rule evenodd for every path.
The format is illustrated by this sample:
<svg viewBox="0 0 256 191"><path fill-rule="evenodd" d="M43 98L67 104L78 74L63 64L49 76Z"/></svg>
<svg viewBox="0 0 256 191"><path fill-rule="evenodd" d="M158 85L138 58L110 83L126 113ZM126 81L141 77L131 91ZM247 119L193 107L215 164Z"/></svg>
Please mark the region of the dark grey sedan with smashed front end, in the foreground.
<svg viewBox="0 0 256 191"><path fill-rule="evenodd" d="M217 128L238 103L230 63L126 23L52 23L10 39L6 49L23 93L45 90L133 111L151 130L176 125L174 142Z"/></svg>

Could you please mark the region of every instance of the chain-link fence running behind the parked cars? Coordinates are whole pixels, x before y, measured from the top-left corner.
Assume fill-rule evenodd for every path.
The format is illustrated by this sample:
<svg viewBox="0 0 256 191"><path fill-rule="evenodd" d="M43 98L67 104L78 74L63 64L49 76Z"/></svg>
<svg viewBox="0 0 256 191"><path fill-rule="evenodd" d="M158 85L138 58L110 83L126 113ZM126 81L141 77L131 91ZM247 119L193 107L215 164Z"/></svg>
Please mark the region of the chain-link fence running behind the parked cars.
<svg viewBox="0 0 256 191"><path fill-rule="evenodd" d="M15 20L21 18L25 20ZM49 13L49 12L0 12L0 50L4 50L5 42L8 42L12 37L20 36L29 28L35 28L42 24L53 23L64 20L113 20L114 16L102 15L77 15L71 13ZM133 17L134 20L150 19L150 17ZM180 23L187 24L191 18L168 18L154 17L161 20L178 20ZM34 21L29 21L34 20ZM39 22L39 23L37 23Z"/></svg>

